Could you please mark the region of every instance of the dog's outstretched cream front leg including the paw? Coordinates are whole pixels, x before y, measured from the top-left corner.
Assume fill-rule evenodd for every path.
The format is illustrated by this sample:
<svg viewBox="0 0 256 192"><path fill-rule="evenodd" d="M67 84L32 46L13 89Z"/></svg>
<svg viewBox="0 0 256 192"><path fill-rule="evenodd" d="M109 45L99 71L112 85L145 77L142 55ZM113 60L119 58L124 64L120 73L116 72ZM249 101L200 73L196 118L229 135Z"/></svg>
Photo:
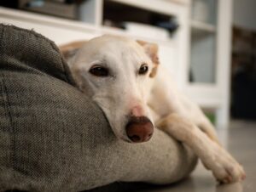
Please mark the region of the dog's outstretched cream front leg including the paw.
<svg viewBox="0 0 256 192"><path fill-rule="evenodd" d="M241 165L224 148L183 116L171 114L158 121L156 126L194 150L219 182L231 183L245 178Z"/></svg>

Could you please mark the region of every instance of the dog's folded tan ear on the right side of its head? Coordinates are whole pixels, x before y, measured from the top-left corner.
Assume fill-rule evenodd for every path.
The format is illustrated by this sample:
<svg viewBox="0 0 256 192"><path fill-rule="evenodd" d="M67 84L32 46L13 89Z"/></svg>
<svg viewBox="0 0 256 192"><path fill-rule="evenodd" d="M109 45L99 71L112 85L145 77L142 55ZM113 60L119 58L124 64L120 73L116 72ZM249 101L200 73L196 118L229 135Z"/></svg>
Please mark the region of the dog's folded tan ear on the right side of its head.
<svg viewBox="0 0 256 192"><path fill-rule="evenodd" d="M137 40L137 43L144 48L145 53L148 54L148 57L152 60L154 67L149 76L154 77L156 75L158 65L160 64L158 58L158 45L156 43L144 42L141 40Z"/></svg>

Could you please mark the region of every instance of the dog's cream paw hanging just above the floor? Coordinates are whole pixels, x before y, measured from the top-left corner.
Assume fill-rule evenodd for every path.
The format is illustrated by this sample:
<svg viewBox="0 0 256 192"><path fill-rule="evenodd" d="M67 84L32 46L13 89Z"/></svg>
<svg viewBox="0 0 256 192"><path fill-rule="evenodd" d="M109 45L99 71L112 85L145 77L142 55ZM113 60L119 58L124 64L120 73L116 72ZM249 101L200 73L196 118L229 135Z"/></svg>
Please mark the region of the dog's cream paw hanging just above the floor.
<svg viewBox="0 0 256 192"><path fill-rule="evenodd" d="M211 159L203 162L220 184L239 182L246 178L243 167L223 148L217 146Z"/></svg>

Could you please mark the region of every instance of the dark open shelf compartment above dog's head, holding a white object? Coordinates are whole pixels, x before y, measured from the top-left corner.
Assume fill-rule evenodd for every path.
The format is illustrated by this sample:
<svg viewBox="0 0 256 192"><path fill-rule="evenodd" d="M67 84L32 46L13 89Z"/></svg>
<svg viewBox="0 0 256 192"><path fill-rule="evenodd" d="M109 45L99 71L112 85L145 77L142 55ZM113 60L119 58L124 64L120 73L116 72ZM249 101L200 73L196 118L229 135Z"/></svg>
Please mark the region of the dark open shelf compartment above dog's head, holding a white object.
<svg viewBox="0 0 256 192"><path fill-rule="evenodd" d="M102 25L124 29L133 36L158 38L162 41L169 40L178 26L176 17L171 14L162 14L113 0L105 0L103 3Z"/></svg>

